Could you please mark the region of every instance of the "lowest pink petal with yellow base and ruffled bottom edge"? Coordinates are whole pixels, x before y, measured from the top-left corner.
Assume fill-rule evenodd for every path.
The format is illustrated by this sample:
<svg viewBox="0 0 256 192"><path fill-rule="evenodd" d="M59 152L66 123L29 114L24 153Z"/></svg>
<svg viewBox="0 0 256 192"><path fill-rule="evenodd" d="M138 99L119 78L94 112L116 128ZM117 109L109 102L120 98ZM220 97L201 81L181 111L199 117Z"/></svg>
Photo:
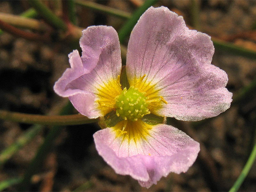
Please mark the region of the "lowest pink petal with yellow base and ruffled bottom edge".
<svg viewBox="0 0 256 192"><path fill-rule="evenodd" d="M141 186L150 187L170 172L186 172L195 162L199 143L177 128L128 122L127 133L118 134L123 124L93 135L100 156L116 173L131 175Z"/></svg>

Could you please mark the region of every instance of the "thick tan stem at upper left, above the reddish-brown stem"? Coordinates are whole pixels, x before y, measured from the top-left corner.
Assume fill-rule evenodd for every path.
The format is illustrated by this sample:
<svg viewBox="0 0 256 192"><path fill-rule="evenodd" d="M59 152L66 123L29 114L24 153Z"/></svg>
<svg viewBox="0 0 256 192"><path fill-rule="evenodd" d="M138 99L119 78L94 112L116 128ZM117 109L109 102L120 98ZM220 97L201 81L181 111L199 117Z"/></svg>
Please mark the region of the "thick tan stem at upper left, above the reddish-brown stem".
<svg viewBox="0 0 256 192"><path fill-rule="evenodd" d="M0 20L16 27L34 29L38 31L47 31L50 28L44 22L40 22L36 19L25 18L8 13L0 13Z"/></svg>

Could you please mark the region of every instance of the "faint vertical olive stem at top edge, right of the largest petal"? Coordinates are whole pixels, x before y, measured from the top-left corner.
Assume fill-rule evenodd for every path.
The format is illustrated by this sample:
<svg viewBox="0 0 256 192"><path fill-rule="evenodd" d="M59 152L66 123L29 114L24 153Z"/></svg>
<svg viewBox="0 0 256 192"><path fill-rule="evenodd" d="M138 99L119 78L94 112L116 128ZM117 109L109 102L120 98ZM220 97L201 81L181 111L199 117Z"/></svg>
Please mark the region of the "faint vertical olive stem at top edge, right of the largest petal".
<svg viewBox="0 0 256 192"><path fill-rule="evenodd" d="M190 5L190 12L191 12L191 22L192 26L200 31L200 1L198 0L191 0L191 5Z"/></svg>

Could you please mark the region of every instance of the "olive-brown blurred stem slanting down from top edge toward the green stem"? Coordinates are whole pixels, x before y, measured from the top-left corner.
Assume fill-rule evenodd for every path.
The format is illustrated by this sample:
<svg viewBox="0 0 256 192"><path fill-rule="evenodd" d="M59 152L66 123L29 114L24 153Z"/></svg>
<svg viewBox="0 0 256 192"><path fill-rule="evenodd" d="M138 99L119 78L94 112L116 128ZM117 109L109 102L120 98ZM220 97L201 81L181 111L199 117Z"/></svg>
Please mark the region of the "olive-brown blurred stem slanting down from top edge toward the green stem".
<svg viewBox="0 0 256 192"><path fill-rule="evenodd" d="M94 3L92 1L75 1L76 4L81 5L83 7L98 11L98 12L105 12L110 15L114 15L123 19L130 19L131 18L131 13L124 12L112 7L108 7L106 5L101 5Z"/></svg>

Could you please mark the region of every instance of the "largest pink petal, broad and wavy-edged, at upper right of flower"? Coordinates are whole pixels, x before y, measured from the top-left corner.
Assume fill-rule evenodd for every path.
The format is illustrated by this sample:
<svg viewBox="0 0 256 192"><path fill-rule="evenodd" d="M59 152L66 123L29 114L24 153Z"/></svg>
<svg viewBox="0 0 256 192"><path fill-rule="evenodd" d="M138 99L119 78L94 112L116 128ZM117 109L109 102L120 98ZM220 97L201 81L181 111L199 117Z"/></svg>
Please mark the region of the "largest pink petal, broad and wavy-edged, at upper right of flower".
<svg viewBox="0 0 256 192"><path fill-rule="evenodd" d="M190 121L217 116L230 107L232 93L225 88L227 74L211 64L213 53L210 36L189 30L166 7L151 7L131 33L127 78L146 92L155 115ZM160 96L167 104L159 104Z"/></svg>

